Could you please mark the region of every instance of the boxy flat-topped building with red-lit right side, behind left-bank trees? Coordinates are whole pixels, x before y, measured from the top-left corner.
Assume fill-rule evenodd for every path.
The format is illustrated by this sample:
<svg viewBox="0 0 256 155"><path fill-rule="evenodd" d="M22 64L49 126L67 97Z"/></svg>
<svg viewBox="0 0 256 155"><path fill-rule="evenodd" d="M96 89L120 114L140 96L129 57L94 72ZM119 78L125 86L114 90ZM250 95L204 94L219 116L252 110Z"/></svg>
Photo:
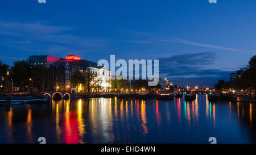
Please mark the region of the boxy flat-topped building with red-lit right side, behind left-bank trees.
<svg viewBox="0 0 256 155"><path fill-rule="evenodd" d="M60 57L50 56L50 55L34 55L29 57L30 65L44 65L50 66L53 62L61 60Z"/></svg>

